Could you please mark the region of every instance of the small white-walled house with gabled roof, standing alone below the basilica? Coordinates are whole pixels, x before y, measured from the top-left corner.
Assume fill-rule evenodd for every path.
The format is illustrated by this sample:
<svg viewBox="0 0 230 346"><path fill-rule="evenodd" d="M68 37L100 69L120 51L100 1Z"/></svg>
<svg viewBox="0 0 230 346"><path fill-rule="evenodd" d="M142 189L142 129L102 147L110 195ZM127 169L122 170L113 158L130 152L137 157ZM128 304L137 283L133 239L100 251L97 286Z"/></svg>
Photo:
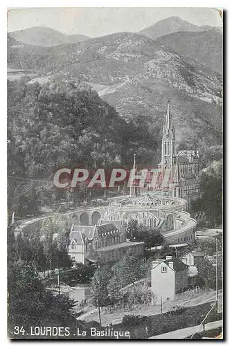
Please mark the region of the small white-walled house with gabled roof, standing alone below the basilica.
<svg viewBox="0 0 230 346"><path fill-rule="evenodd" d="M151 289L154 304L175 300L175 294L188 286L188 266L179 258L166 256L166 260L152 262Z"/></svg>

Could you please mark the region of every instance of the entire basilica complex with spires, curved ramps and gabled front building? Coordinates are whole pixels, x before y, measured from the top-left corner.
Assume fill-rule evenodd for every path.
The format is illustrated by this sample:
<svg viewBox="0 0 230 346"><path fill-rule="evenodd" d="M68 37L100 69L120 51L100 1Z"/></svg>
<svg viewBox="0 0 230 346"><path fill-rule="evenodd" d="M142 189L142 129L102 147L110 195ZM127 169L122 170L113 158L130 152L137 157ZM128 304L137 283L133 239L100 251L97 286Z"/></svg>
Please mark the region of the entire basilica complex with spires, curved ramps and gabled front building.
<svg viewBox="0 0 230 346"><path fill-rule="evenodd" d="M132 172L136 177L141 174L136 169L136 156ZM144 186L140 179L134 179L128 194L107 199L106 206L75 212L69 254L73 261L82 263L116 261L125 253L140 255L143 243L126 239L126 227L131 219L159 230L168 244L193 242L197 222L188 211L191 201L199 196L199 153L176 152L175 127L168 104L158 169L147 172Z"/></svg>

